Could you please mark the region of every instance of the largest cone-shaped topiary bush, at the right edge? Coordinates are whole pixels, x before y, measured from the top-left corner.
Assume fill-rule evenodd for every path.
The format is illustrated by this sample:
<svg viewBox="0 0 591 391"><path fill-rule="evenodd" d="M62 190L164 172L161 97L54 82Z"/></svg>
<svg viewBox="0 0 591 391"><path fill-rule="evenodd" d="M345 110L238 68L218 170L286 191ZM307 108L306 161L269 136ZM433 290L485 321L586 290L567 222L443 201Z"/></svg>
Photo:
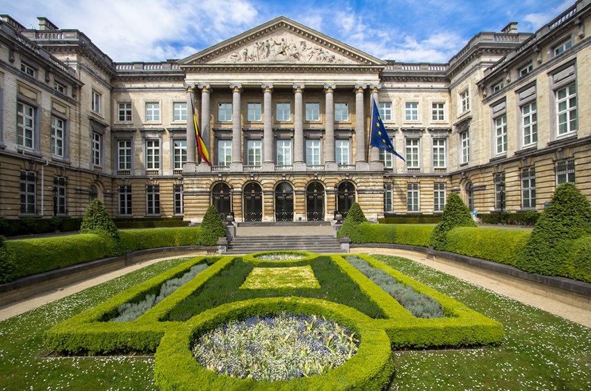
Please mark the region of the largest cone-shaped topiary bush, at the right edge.
<svg viewBox="0 0 591 391"><path fill-rule="evenodd" d="M530 273L560 276L565 269L560 244L590 233L589 201L572 183L560 185L537 219L515 266Z"/></svg>

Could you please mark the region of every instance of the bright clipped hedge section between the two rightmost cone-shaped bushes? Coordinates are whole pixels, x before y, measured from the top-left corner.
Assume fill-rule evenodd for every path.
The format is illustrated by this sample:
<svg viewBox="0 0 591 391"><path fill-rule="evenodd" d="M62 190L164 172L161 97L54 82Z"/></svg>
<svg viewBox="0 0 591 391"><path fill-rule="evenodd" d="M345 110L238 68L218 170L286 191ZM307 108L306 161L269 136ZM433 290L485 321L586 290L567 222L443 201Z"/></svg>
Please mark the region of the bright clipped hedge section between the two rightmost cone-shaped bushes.
<svg viewBox="0 0 591 391"><path fill-rule="evenodd" d="M515 266L530 235L520 229L458 227L447 233L445 251Z"/></svg>

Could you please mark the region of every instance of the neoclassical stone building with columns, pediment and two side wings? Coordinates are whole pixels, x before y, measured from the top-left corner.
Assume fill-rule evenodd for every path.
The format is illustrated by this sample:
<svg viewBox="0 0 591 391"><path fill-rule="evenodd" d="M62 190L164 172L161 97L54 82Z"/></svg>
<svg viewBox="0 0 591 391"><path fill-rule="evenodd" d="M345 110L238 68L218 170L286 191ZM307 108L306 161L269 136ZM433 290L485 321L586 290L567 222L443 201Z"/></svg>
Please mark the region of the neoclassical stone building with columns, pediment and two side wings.
<svg viewBox="0 0 591 391"><path fill-rule="evenodd" d="M0 19L0 215L200 222L543 210L591 199L591 1L535 33L479 33L398 63L285 17L182 60L114 63L78 30ZM373 101L406 162L370 147ZM212 165L195 149L195 125Z"/></svg>

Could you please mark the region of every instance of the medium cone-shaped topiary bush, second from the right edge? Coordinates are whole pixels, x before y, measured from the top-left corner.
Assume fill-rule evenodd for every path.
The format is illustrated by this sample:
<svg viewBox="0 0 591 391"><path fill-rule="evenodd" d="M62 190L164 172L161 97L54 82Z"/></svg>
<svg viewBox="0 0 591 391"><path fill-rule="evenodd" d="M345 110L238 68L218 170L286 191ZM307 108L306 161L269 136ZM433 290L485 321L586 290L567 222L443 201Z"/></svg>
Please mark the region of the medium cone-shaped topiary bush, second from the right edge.
<svg viewBox="0 0 591 391"><path fill-rule="evenodd" d="M447 251L447 233L458 226L476 226L476 223L460 196L450 193L447 196L442 221L431 233L430 246L439 251Z"/></svg>

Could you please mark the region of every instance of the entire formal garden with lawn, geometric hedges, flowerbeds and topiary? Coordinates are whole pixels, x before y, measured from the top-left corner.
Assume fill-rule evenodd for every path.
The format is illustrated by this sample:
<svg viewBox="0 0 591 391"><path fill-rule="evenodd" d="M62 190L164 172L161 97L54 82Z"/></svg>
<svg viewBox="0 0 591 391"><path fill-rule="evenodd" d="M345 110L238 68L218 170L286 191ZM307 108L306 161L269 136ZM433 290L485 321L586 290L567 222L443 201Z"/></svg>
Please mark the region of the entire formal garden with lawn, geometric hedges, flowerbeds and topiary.
<svg viewBox="0 0 591 391"><path fill-rule="evenodd" d="M533 231L478 228L456 194L437 226L369 224L354 205L339 234L590 282L581 197L561 186ZM79 235L2 242L3 281L225 234L215 208L197 228L118 231L99 203L87 215ZM591 388L589 328L405 258L354 253L163 260L0 322L0 356L7 390Z"/></svg>

